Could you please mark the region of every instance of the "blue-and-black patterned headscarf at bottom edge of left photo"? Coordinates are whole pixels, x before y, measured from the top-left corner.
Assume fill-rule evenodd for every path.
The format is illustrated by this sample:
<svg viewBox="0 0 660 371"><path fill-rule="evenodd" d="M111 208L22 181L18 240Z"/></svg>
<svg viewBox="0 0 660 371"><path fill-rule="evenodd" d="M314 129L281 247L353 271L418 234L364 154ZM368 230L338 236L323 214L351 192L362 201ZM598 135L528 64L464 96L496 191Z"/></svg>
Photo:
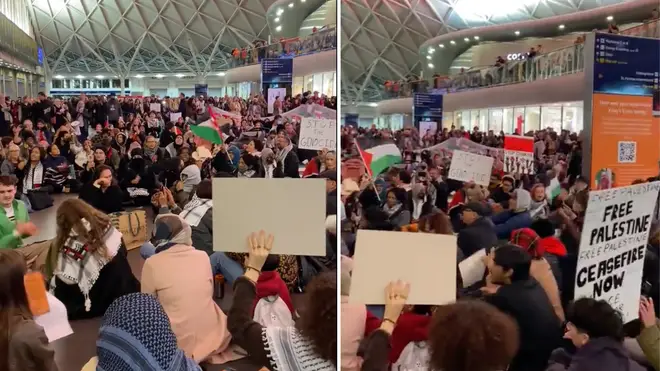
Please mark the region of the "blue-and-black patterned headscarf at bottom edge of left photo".
<svg viewBox="0 0 660 371"><path fill-rule="evenodd" d="M201 371L177 346L165 310L152 295L116 299L96 341L99 371Z"/></svg>

